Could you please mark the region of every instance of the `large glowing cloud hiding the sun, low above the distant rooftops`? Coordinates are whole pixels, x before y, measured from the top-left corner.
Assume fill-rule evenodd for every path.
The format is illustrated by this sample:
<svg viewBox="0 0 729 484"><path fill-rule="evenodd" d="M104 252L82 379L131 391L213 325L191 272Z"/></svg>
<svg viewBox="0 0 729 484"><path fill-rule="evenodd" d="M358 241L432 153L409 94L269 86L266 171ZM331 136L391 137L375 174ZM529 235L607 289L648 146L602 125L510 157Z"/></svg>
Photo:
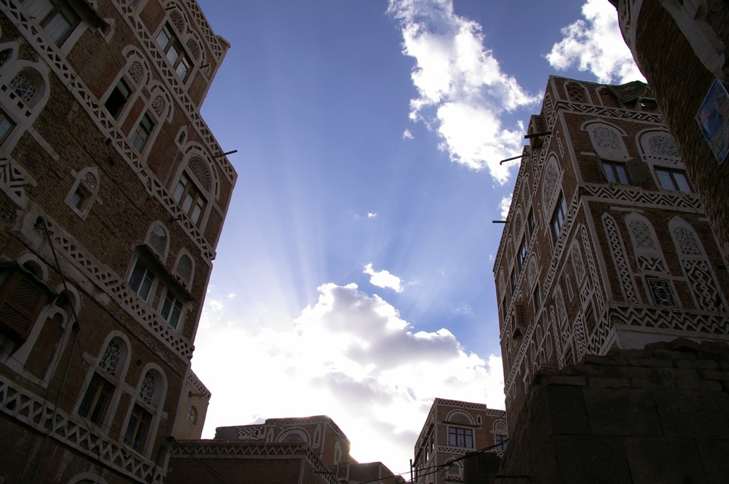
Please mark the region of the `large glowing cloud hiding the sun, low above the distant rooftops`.
<svg viewBox="0 0 729 484"><path fill-rule="evenodd" d="M203 327L220 322L228 303L206 304ZM319 287L317 303L288 327L224 323L198 333L196 345L193 368L213 393L206 438L217 426L329 415L354 458L406 472L434 397L504 407L501 358L467 353L447 329L414 331L355 284Z"/></svg>

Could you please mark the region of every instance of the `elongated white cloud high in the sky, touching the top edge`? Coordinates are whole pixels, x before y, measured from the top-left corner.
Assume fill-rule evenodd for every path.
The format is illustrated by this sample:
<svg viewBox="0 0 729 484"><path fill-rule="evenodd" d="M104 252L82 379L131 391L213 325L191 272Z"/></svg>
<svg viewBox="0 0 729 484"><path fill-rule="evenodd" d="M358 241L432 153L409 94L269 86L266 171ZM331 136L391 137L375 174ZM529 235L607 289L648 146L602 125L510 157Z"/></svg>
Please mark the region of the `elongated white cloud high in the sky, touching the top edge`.
<svg viewBox="0 0 729 484"><path fill-rule="evenodd" d="M389 0L388 12L400 22L403 53L416 60L410 119L437 130L451 160L488 167L504 184L509 168L499 160L521 152L524 128L504 128L500 116L539 99L501 71L481 26L456 15L453 0Z"/></svg>

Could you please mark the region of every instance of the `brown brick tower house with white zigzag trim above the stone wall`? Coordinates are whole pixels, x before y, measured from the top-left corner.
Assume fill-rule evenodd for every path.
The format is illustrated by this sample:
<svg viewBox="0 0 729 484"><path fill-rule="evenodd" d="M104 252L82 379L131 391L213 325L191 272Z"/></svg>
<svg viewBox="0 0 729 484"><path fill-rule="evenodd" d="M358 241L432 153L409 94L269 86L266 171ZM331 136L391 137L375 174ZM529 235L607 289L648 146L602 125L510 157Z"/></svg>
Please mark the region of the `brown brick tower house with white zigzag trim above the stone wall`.
<svg viewBox="0 0 729 484"><path fill-rule="evenodd" d="M510 432L540 367L727 339L726 261L650 87L550 77L494 276Z"/></svg>

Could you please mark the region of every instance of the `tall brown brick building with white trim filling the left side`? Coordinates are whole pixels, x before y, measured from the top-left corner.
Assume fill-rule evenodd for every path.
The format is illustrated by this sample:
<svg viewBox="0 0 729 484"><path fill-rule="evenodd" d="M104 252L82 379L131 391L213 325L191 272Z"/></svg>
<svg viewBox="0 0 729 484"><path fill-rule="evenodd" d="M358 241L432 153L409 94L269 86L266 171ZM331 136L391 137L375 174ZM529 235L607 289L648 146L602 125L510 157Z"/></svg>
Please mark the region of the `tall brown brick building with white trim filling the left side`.
<svg viewBox="0 0 729 484"><path fill-rule="evenodd" d="M0 481L161 482L236 173L192 0L0 1Z"/></svg>

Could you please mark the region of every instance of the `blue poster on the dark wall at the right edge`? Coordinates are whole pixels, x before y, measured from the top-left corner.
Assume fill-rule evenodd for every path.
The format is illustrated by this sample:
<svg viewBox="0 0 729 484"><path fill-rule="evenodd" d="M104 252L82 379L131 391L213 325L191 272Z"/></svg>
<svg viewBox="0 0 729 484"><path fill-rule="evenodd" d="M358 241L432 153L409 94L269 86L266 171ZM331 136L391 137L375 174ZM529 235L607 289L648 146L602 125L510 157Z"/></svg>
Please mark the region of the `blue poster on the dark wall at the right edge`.
<svg viewBox="0 0 729 484"><path fill-rule="evenodd" d="M703 98L696 113L696 122L712 147L717 162L722 163L729 153L729 94L719 79L714 80L706 98Z"/></svg>

